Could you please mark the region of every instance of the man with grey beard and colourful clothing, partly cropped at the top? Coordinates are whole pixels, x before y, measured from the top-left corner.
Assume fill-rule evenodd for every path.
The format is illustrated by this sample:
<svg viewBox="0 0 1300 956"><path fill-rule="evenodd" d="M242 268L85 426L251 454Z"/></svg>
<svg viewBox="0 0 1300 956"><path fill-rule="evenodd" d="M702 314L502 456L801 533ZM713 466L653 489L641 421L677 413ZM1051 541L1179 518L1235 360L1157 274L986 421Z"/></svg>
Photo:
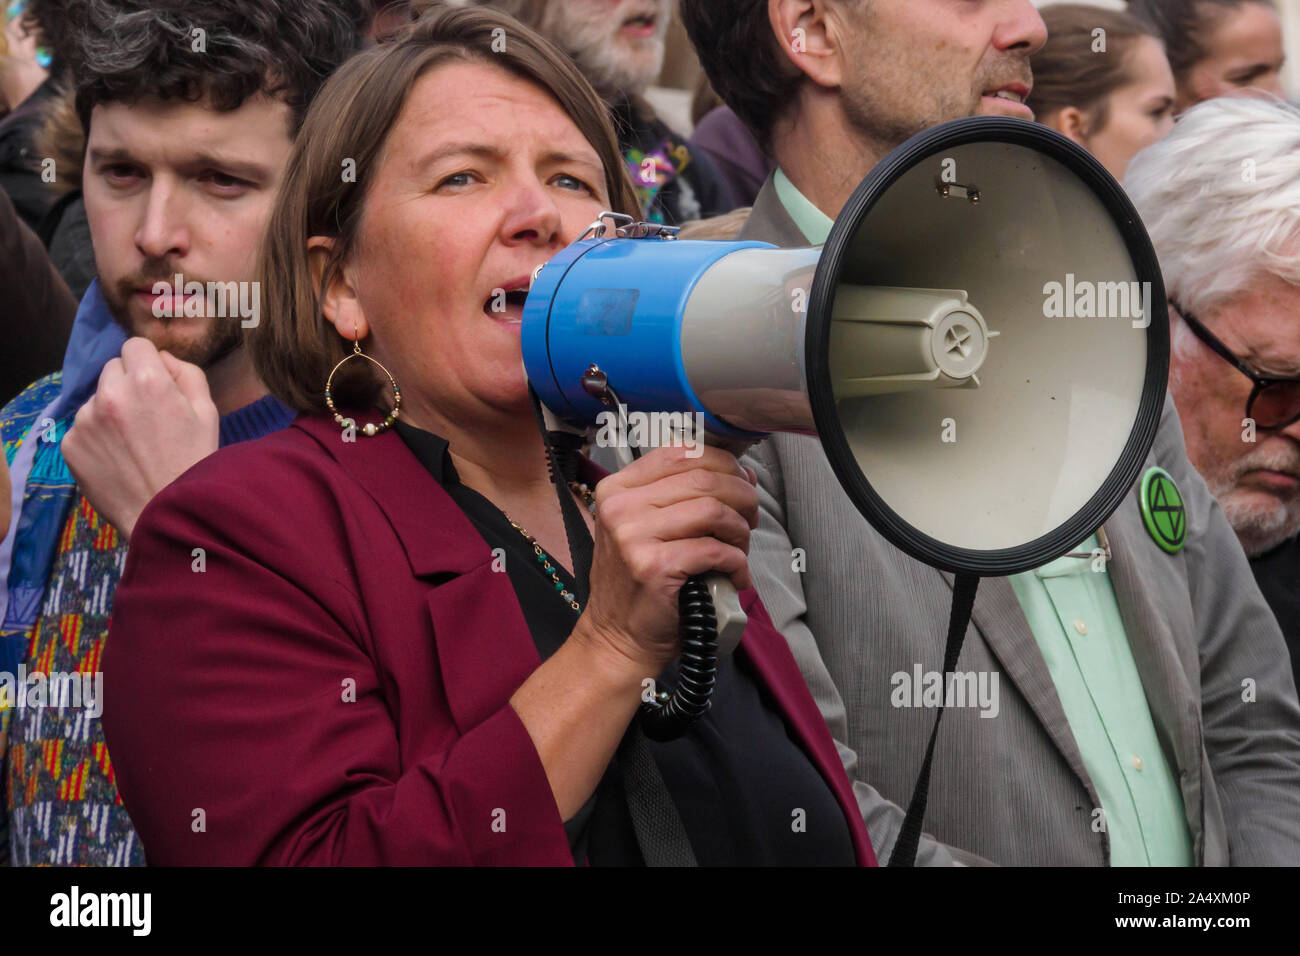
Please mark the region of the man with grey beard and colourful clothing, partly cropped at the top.
<svg viewBox="0 0 1300 956"><path fill-rule="evenodd" d="M619 148L646 219L682 222L738 203L712 160L671 130L645 99L663 69L670 0L451 0L495 7L568 53L610 104ZM413 8L448 0L417 0Z"/></svg>

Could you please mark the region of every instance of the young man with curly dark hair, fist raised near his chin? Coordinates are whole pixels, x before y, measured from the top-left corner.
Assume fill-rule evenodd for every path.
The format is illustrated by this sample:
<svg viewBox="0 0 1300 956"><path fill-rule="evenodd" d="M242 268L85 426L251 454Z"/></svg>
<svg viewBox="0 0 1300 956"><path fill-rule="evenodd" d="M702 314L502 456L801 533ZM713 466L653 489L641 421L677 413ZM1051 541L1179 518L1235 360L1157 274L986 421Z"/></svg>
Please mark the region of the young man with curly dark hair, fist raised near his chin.
<svg viewBox="0 0 1300 956"><path fill-rule="evenodd" d="M0 544L14 865L144 862L99 721L99 661L127 538L150 498L190 466L292 418L254 373L247 310L231 313L228 299L218 313L220 299L191 284L250 289L292 135L324 79L360 48L364 9L338 0L75 7L66 40L99 277L62 369L0 411L22 489ZM47 698L23 683L34 672L51 688L53 675L84 680L81 693ZM4 744L0 734L0 752Z"/></svg>

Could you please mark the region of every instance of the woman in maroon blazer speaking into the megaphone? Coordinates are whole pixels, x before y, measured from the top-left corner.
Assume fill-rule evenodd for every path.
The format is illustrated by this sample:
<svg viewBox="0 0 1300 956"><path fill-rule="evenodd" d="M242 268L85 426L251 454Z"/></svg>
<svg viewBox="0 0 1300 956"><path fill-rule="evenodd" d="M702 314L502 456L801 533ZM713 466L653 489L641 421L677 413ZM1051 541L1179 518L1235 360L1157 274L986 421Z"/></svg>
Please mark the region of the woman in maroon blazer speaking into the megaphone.
<svg viewBox="0 0 1300 956"><path fill-rule="evenodd" d="M749 589L753 475L659 449L602 477L538 429L529 276L636 211L571 62L428 14L326 83L289 170L251 347L302 415L162 492L116 598L104 726L150 861L872 864ZM705 571L744 640L708 713L646 740Z"/></svg>

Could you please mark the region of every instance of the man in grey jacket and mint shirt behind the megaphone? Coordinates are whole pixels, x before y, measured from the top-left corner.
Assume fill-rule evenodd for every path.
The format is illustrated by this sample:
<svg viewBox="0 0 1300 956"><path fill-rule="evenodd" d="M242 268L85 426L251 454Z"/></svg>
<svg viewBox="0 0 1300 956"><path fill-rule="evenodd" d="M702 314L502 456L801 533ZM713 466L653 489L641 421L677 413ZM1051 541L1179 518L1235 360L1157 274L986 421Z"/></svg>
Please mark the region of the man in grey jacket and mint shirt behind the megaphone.
<svg viewBox="0 0 1300 956"><path fill-rule="evenodd" d="M682 0L681 10L714 88L779 165L741 238L822 243L906 138L966 116L1031 118L1028 57L1045 31L1028 0ZM888 858L935 719L896 704L892 675L940 666L952 585L861 518L815 438L774 436L746 463L762 510L755 587ZM988 719L945 711L919 862L948 864L952 847L1004 865L1300 862L1300 704L1286 648L1187 460L1171 402L1152 468L1180 492L1176 553L1148 535L1135 489L1104 528L1101 572L1062 558L982 580L961 670L997 676L998 708ZM1076 550L1098 545L1093 535Z"/></svg>

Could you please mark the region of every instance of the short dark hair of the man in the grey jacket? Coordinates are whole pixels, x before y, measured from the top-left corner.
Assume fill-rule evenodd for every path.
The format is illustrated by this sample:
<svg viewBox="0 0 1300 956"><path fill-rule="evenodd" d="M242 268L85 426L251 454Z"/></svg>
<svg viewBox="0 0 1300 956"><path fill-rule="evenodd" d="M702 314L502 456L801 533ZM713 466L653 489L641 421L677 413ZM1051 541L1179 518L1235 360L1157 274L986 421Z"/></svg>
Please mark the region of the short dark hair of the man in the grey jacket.
<svg viewBox="0 0 1300 956"><path fill-rule="evenodd" d="M803 74L777 44L767 0L680 0L680 12L714 91L771 151L772 126Z"/></svg>

